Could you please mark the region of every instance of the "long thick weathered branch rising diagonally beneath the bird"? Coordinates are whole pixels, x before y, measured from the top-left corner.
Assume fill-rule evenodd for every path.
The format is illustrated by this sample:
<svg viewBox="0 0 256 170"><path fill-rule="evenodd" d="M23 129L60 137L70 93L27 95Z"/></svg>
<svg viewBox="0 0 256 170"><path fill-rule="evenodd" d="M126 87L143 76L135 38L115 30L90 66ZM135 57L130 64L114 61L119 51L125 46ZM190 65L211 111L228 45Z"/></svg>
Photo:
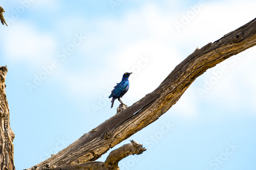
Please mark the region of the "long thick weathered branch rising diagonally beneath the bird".
<svg viewBox="0 0 256 170"><path fill-rule="evenodd" d="M256 18L214 43L197 49L170 72L153 92L84 134L66 149L37 164L78 165L95 161L116 144L150 125L172 107L208 68L256 44ZM33 167L29 168L33 169Z"/></svg>

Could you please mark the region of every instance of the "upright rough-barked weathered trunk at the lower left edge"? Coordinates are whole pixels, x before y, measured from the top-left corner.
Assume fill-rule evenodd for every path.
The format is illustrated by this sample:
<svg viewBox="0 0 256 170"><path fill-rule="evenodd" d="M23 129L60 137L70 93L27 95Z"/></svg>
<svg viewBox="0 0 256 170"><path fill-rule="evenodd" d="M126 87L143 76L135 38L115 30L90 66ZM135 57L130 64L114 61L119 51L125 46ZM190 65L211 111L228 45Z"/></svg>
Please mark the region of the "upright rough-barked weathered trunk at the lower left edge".
<svg viewBox="0 0 256 170"><path fill-rule="evenodd" d="M5 93L7 67L0 66L0 167L15 169L13 162L14 133L10 127L10 112Z"/></svg>

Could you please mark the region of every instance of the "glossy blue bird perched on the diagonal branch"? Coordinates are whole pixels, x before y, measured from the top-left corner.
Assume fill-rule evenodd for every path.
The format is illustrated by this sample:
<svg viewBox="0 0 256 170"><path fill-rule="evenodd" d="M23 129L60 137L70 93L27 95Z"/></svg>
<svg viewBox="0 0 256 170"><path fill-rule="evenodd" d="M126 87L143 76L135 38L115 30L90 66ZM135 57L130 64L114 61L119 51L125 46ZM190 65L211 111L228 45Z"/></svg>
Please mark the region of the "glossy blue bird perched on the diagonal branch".
<svg viewBox="0 0 256 170"><path fill-rule="evenodd" d="M132 72L125 72L125 74L123 74L122 77L122 81L120 83L116 83L117 85L114 87L114 89L111 91L111 94L109 96L109 98L112 98L111 101L111 108L114 105L114 102L116 99L118 99L118 101L122 104L123 102L120 100L120 98L122 98L122 96L128 91L129 89L129 76L132 74Z"/></svg>

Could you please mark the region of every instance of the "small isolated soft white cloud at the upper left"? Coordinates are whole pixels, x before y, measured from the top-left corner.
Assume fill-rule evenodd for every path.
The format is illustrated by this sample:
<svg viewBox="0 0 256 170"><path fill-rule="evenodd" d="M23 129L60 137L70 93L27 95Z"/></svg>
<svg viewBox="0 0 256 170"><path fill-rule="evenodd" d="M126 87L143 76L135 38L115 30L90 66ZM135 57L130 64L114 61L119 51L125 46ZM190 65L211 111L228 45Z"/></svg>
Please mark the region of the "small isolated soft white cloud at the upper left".
<svg viewBox="0 0 256 170"><path fill-rule="evenodd" d="M12 62L25 61L31 65L47 65L56 51L53 36L39 32L29 22L15 22L3 38L5 55Z"/></svg>

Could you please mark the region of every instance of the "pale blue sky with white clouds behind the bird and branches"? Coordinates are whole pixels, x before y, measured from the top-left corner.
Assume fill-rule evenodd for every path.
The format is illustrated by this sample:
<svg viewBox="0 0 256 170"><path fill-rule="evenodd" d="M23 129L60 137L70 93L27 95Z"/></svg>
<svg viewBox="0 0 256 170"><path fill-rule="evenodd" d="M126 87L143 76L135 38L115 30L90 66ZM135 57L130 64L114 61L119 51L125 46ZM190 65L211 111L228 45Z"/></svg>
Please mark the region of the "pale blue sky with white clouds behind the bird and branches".
<svg viewBox="0 0 256 170"><path fill-rule="evenodd" d="M131 106L197 47L256 16L255 1L1 1L0 65L16 169L56 154L115 115L124 72ZM208 69L135 140L147 150L120 169L255 169L256 47Z"/></svg>

